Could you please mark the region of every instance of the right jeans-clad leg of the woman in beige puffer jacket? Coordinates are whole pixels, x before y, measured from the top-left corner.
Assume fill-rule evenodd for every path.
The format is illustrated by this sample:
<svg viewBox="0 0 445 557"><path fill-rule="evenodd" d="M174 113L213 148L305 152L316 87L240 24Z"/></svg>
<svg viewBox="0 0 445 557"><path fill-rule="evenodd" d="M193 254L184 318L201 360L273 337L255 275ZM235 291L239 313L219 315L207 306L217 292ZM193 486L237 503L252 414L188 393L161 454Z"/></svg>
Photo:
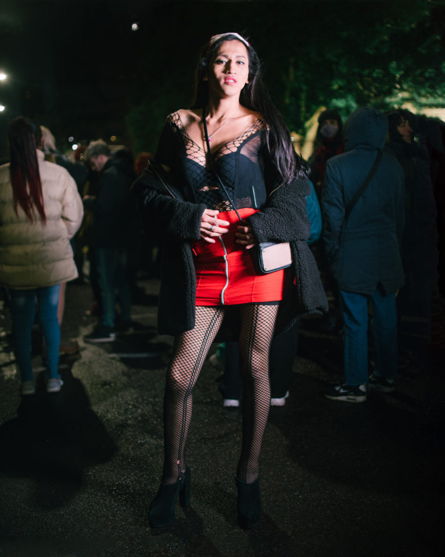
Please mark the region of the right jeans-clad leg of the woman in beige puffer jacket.
<svg viewBox="0 0 445 557"><path fill-rule="evenodd" d="M46 377L60 378L58 373L60 326L57 319L60 284L37 289L38 317L46 345Z"/></svg>

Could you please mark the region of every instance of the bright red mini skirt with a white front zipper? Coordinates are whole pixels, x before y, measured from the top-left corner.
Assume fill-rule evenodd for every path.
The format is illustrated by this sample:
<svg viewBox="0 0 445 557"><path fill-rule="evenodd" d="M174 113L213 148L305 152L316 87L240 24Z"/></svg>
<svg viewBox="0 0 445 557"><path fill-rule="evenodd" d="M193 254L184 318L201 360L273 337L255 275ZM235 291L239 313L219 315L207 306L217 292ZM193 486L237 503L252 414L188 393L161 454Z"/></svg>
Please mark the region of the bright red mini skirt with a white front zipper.
<svg viewBox="0 0 445 557"><path fill-rule="evenodd" d="M239 209L241 218L250 217L258 209ZM196 305L221 306L274 302L283 299L284 269L258 275L251 250L235 243L240 221L235 211L218 214L230 222L229 232L215 238L215 243L194 243L196 272Z"/></svg>

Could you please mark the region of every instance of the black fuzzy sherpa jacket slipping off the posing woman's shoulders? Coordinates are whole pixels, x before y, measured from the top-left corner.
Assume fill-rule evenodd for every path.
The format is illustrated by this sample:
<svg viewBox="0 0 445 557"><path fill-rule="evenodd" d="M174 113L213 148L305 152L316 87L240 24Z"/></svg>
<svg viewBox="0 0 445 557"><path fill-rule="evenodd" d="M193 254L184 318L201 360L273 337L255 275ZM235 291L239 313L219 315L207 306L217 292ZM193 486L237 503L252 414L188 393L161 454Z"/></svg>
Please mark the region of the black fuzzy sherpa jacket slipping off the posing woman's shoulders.
<svg viewBox="0 0 445 557"><path fill-rule="evenodd" d="M182 197L177 188L167 185L175 195ZM191 245L200 240L201 217L206 207L172 197L150 164L133 184L132 192L145 233L162 244L159 333L177 335L191 330L195 326L196 296ZM296 179L275 189L266 206L247 219L259 242L290 241L293 266L291 272L286 273L287 284L275 334L287 330L300 314L328 311L317 265L306 243L310 234L305 199L308 194L309 181ZM236 306L227 309L217 340L238 340L238 310Z"/></svg>

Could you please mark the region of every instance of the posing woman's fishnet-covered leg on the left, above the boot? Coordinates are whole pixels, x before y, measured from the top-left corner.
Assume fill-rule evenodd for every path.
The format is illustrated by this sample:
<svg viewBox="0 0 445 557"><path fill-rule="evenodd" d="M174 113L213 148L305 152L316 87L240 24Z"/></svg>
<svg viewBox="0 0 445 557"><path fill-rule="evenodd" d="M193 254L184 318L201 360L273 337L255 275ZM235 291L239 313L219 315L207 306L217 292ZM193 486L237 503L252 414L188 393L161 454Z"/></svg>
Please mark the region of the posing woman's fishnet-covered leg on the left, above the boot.
<svg viewBox="0 0 445 557"><path fill-rule="evenodd" d="M164 472L162 483L185 473L185 443L192 412L192 390L210 345L220 328L222 307L196 307L195 327L175 339L164 396Z"/></svg>

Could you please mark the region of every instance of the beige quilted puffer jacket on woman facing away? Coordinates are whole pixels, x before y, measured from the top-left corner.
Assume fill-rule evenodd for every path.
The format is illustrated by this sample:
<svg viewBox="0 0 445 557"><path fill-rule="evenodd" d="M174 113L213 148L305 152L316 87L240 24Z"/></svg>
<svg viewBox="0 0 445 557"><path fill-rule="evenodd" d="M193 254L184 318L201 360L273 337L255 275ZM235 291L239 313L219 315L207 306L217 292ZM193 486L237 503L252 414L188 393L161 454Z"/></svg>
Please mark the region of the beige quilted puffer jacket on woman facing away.
<svg viewBox="0 0 445 557"><path fill-rule="evenodd" d="M0 285L12 289L53 286L77 277L70 238L81 225L83 204L68 171L37 150L44 224L14 211L9 164L0 167Z"/></svg>

